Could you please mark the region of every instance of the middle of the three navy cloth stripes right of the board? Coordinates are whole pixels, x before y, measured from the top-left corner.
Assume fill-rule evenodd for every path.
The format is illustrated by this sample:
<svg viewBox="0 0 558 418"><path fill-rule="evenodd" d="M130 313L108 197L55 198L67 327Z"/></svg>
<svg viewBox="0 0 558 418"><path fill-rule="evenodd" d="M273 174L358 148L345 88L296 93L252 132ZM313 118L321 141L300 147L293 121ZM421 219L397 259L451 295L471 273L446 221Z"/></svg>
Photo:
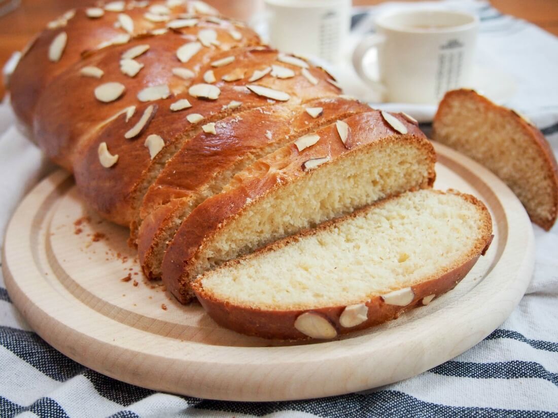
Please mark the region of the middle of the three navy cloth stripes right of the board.
<svg viewBox="0 0 558 418"><path fill-rule="evenodd" d="M430 369L436 375L472 377L476 379L544 379L558 386L558 373L551 373L542 364L532 361L507 361L494 363L474 363L448 361Z"/></svg>

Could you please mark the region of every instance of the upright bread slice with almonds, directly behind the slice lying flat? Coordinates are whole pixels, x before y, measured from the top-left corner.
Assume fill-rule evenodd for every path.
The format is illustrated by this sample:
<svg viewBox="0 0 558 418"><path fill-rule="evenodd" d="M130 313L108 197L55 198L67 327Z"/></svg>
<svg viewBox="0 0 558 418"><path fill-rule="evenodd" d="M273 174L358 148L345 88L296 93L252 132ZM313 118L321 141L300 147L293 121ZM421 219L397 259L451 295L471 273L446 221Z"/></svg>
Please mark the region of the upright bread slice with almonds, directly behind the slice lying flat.
<svg viewBox="0 0 558 418"><path fill-rule="evenodd" d="M296 140L259 159L190 213L163 257L162 279L176 298L193 298L191 281L224 261L434 183L434 149L403 115L375 110L340 123L345 142L339 123L315 130L317 142L299 149Z"/></svg>

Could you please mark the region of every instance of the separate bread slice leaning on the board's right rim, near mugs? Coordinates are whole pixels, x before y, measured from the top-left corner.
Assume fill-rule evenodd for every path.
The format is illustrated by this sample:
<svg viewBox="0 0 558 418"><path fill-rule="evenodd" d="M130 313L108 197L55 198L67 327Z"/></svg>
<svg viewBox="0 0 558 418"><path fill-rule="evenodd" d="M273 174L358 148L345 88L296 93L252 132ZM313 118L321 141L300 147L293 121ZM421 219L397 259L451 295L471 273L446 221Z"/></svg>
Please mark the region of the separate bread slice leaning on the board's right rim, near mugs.
<svg viewBox="0 0 558 418"><path fill-rule="evenodd" d="M473 90L444 96L433 139L475 159L517 195L531 220L550 230L558 215L558 165L540 130Z"/></svg>

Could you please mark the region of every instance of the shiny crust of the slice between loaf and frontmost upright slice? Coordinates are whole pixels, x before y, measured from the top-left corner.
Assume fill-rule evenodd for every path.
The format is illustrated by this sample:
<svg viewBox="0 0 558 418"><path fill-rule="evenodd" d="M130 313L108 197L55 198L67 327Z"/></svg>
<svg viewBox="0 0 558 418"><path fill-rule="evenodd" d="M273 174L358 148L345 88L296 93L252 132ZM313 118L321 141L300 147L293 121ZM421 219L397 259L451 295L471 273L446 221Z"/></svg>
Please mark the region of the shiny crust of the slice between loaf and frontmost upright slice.
<svg viewBox="0 0 558 418"><path fill-rule="evenodd" d="M312 118L306 108L323 111ZM253 162L251 154L272 152L271 147L296 140L302 132L312 132L335 120L369 110L365 104L341 98L256 108L223 119L217 124L217 134L200 133L191 139L167 162L143 199L141 217L146 218L137 239L143 272L148 278L160 275L157 266L160 261L154 260L153 254L165 245L169 230L176 218L182 216L181 212L203 200L205 188L218 192L212 182L220 173L238 171L241 163L243 168ZM167 204L170 206L159 208Z"/></svg>

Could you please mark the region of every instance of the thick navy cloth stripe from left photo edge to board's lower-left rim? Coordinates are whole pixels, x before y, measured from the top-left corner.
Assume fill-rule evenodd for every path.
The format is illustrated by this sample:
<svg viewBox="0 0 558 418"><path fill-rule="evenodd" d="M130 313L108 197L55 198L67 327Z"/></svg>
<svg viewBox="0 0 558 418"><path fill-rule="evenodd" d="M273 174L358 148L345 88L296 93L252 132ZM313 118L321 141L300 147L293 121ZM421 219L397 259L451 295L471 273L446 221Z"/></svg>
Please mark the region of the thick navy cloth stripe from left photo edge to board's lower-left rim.
<svg viewBox="0 0 558 418"><path fill-rule="evenodd" d="M81 364L56 351L34 332L0 327L0 344L41 373L59 382L85 370Z"/></svg>

